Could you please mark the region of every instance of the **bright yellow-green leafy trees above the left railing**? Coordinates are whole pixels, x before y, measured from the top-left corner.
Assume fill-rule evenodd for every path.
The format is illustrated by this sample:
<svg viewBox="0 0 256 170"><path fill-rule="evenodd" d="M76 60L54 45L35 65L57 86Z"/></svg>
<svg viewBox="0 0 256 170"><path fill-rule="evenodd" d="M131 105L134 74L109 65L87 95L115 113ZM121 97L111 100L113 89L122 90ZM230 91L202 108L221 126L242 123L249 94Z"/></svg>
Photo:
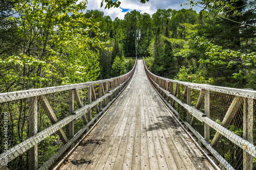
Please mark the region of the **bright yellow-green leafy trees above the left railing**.
<svg viewBox="0 0 256 170"><path fill-rule="evenodd" d="M104 54L112 53L111 39L104 33L110 31L105 23L111 19L103 17L99 11L101 15L98 17L90 11L83 14L80 11L86 9L86 3L1 1L1 92L113 76L107 64L111 67L118 54L112 57L114 51L109 63L107 58L101 60ZM118 44L116 48L119 48ZM114 46L114 50L116 48ZM115 74L119 75L120 72Z"/></svg>

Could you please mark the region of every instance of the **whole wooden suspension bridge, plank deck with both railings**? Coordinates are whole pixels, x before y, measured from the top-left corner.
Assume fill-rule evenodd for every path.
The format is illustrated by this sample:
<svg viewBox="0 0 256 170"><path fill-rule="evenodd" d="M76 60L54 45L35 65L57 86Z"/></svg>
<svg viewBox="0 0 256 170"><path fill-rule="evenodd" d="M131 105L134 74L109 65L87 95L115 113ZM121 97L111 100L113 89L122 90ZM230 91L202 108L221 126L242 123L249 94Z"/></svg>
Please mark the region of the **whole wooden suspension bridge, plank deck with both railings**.
<svg viewBox="0 0 256 170"><path fill-rule="evenodd" d="M253 170L255 103L137 59L120 77L1 93L0 169Z"/></svg>

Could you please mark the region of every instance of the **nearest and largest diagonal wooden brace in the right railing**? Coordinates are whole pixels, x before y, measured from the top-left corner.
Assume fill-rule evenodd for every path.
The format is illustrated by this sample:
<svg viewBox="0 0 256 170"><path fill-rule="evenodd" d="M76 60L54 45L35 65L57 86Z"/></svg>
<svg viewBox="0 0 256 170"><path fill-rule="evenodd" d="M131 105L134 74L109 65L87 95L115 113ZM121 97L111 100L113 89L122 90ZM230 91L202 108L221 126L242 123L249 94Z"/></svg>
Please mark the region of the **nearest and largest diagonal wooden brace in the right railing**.
<svg viewBox="0 0 256 170"><path fill-rule="evenodd" d="M225 114L222 122L221 122L221 126L223 126L224 128L227 128L230 123L231 120L233 119L234 115L237 113L239 107L241 106L243 102L243 98L240 96L234 96L234 99L232 101L232 103L230 104L227 113ZM210 145L212 146L212 148L216 148L217 144L219 143L219 141L222 138L222 134L220 134L219 132L216 132L214 139L212 139Z"/></svg>

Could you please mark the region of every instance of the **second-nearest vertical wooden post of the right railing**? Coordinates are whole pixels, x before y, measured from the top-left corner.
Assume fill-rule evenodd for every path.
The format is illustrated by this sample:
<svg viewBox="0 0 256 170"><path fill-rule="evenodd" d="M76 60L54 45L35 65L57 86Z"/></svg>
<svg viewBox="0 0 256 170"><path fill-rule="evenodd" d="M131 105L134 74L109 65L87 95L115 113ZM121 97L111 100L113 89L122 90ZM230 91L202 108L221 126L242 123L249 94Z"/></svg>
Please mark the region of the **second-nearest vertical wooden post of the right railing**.
<svg viewBox="0 0 256 170"><path fill-rule="evenodd" d="M210 91L205 90L205 98L204 98L204 112L206 117L210 117ZM209 125L204 123L204 139L208 143L210 142L210 127Z"/></svg>

